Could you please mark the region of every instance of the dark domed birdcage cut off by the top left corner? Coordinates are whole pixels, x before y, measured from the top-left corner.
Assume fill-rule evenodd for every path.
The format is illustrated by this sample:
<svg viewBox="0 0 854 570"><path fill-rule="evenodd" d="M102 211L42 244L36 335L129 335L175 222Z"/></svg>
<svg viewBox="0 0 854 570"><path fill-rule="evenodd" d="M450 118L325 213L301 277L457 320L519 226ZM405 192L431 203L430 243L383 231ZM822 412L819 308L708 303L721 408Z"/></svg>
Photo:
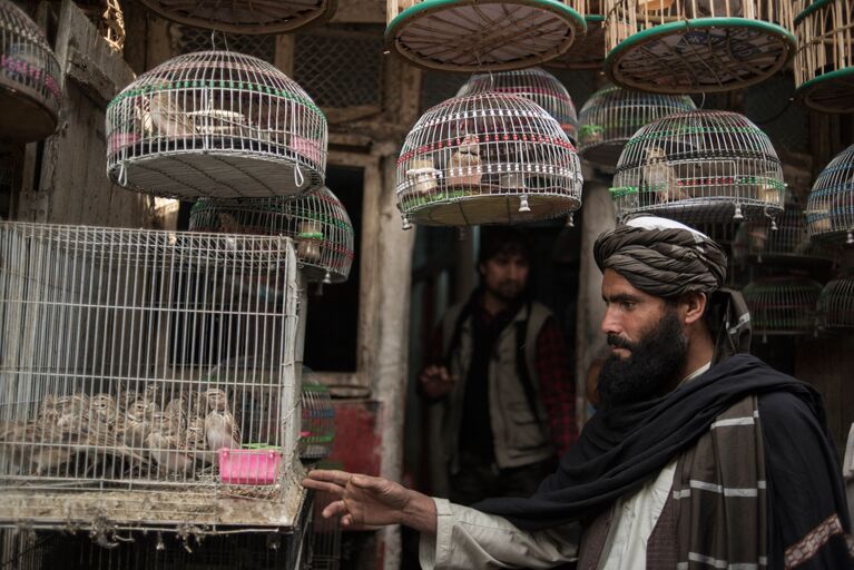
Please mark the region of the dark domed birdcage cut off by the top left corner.
<svg viewBox="0 0 854 570"><path fill-rule="evenodd" d="M0 140L30 142L56 130L59 72L36 22L10 0L0 0Z"/></svg>

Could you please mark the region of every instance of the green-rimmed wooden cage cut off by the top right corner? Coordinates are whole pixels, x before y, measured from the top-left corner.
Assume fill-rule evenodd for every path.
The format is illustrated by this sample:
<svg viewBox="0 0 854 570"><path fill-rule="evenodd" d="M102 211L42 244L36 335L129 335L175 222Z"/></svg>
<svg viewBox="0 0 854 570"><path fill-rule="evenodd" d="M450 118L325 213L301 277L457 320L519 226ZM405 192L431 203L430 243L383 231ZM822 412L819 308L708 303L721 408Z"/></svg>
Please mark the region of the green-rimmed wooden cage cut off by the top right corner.
<svg viewBox="0 0 854 570"><path fill-rule="evenodd" d="M796 0L796 96L824 112L854 111L854 0Z"/></svg>

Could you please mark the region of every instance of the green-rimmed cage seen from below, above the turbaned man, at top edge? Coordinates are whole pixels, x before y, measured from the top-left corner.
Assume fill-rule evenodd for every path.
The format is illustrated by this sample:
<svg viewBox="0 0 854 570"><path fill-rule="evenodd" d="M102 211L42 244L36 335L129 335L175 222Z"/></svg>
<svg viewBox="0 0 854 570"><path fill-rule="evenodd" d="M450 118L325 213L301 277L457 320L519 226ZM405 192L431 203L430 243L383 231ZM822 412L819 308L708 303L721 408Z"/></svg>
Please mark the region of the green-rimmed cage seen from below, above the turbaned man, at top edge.
<svg viewBox="0 0 854 570"><path fill-rule="evenodd" d="M603 0L605 70L664 94L742 89L795 52L792 0Z"/></svg>

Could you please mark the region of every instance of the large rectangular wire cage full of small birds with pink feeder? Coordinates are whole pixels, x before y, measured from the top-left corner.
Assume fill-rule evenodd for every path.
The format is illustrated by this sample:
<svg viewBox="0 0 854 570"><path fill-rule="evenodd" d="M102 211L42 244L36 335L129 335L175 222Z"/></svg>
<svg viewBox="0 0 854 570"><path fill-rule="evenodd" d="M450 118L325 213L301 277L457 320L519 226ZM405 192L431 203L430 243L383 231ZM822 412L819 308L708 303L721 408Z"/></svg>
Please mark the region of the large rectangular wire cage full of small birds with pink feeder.
<svg viewBox="0 0 854 570"><path fill-rule="evenodd" d="M297 298L284 237L0 223L0 527L287 524Z"/></svg>

